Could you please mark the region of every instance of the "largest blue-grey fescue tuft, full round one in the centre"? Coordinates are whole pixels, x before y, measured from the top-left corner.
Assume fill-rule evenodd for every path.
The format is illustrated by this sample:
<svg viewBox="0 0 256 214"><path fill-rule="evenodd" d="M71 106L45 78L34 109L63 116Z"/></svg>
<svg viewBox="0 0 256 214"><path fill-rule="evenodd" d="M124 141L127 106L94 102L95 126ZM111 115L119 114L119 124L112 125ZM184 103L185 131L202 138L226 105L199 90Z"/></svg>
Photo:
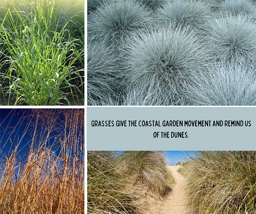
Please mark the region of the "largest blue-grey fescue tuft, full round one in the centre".
<svg viewBox="0 0 256 214"><path fill-rule="evenodd" d="M134 35L124 50L125 82L135 90L132 96L151 100L148 105L180 105L183 89L203 72L207 60L207 52L191 29L172 26Z"/></svg>

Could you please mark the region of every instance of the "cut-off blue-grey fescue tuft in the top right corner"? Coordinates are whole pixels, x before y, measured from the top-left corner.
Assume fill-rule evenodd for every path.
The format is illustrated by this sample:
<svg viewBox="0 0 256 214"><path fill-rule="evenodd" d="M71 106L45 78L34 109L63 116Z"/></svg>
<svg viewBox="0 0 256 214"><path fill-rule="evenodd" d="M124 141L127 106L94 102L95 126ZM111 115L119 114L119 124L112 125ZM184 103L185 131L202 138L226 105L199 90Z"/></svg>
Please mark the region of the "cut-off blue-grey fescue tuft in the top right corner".
<svg viewBox="0 0 256 214"><path fill-rule="evenodd" d="M220 13L233 16L246 15L249 18L256 18L256 5L250 0L225 0L219 4Z"/></svg>

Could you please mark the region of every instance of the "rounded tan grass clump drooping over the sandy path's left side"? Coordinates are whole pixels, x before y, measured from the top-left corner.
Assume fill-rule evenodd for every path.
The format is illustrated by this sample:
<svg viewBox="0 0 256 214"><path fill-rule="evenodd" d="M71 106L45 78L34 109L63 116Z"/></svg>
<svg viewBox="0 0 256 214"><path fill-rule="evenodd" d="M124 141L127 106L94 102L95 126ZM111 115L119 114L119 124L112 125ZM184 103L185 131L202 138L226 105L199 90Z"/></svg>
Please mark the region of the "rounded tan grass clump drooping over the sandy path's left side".
<svg viewBox="0 0 256 214"><path fill-rule="evenodd" d="M127 151L120 159L120 170L132 176L134 185L143 185L158 197L168 194L171 175L167 171L163 152Z"/></svg>

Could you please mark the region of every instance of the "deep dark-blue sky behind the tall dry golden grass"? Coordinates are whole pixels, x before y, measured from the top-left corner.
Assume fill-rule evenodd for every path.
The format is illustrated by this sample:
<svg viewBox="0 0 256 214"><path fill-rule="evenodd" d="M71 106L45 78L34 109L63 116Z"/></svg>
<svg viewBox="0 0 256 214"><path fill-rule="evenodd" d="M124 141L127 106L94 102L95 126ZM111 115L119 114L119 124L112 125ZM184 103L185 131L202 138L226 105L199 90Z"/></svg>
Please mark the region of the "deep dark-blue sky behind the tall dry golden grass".
<svg viewBox="0 0 256 214"><path fill-rule="evenodd" d="M64 115L59 114L61 111L65 111L65 109L56 109L56 112L58 113L58 118L55 122L56 127L58 127L60 121L64 121ZM16 146L18 151L22 150L19 153L20 159L28 154L34 134L33 124L35 124L32 117L29 117L30 113L30 109L0 109L0 158L5 155L8 157L11 156L12 151ZM49 115L49 118L51 117L52 115ZM45 127L45 125L40 125L40 123L37 125L35 136L37 145L39 142L43 141L41 138L44 139L44 137L47 136L47 132L44 133ZM77 128L77 132L79 130L80 128ZM67 128L67 134L68 131ZM62 132L64 132L63 129L52 131L47 142L45 142L45 145L48 148L54 149L56 155L60 152L60 141L55 140L54 137L58 136L58 138L60 138L59 134L61 135ZM23 161L25 160L23 159Z"/></svg>

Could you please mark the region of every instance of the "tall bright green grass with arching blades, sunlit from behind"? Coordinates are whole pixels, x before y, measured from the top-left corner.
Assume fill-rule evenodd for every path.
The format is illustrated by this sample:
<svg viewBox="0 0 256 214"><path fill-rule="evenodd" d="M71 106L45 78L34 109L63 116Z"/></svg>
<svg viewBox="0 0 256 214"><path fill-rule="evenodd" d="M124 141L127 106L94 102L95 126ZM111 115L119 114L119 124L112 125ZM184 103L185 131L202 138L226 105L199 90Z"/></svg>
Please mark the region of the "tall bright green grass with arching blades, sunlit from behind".
<svg viewBox="0 0 256 214"><path fill-rule="evenodd" d="M0 91L6 105L71 105L84 97L83 13L72 6L68 14L60 3L30 0L0 8Z"/></svg>

